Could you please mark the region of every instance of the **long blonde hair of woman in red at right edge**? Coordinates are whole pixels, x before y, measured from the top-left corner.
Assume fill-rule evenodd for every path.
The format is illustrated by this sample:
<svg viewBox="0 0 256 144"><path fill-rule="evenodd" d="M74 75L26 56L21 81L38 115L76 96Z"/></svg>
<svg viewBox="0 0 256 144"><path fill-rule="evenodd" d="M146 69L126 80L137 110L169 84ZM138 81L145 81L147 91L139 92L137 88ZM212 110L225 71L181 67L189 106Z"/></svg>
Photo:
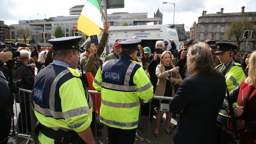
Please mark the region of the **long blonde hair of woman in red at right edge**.
<svg viewBox="0 0 256 144"><path fill-rule="evenodd" d="M248 77L245 79L245 83L252 84L252 86L256 87L256 51L251 53L249 64Z"/></svg>

